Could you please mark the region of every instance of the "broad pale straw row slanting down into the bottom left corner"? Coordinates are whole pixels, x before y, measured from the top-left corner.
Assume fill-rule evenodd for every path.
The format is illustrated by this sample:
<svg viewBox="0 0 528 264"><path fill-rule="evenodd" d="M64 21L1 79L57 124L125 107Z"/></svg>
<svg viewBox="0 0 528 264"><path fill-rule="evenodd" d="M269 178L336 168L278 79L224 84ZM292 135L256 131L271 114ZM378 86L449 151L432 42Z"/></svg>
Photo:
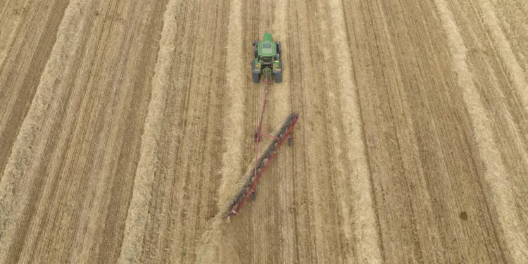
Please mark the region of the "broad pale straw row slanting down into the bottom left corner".
<svg viewBox="0 0 528 264"><path fill-rule="evenodd" d="M32 167L42 156L49 128L46 122L56 115L58 101L64 89L61 77L75 63L74 54L80 44L84 15L92 1L73 0L66 8L58 27L56 44L46 63L37 92L20 132L0 182L0 263L6 263L8 250L15 240L16 229L23 210L27 207L29 191L34 177Z"/></svg>

